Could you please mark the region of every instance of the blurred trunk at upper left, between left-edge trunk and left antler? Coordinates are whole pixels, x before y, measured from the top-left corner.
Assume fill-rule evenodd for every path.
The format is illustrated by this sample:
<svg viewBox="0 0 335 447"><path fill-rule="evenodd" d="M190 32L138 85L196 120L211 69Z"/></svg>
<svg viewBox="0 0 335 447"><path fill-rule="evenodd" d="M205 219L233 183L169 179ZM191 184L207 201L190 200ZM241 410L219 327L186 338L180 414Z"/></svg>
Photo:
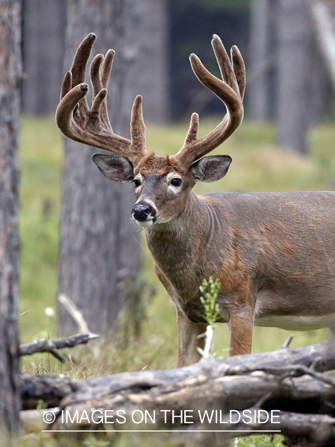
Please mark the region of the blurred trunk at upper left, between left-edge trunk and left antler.
<svg viewBox="0 0 335 447"><path fill-rule="evenodd" d="M66 0L24 3L22 110L54 115L64 59Z"/></svg>

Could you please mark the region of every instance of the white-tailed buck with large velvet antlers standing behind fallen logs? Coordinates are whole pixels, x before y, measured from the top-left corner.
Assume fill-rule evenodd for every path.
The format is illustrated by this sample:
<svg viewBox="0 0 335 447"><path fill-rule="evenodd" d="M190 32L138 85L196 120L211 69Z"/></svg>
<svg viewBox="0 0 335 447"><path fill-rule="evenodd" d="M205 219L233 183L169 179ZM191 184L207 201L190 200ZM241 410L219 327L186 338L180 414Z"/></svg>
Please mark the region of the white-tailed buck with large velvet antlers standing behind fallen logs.
<svg viewBox="0 0 335 447"><path fill-rule="evenodd" d="M335 331L335 193L212 193L197 196L197 181L214 182L230 165L228 155L201 158L237 129L243 118L245 68L236 47L231 62L218 36L212 46L222 80L192 54L203 85L226 105L221 123L197 139L192 115L184 146L176 155L148 154L141 96L134 100L132 140L115 135L107 114L107 83L114 51L91 64L93 103L87 105L85 70L95 40L79 46L64 78L57 124L68 137L106 149L93 161L115 182L134 182L133 218L144 228L158 278L177 310L177 366L199 360L205 331L199 286L221 282L221 321L229 326L229 354L250 353L253 326ZM283 159L283 163L285 160Z"/></svg>

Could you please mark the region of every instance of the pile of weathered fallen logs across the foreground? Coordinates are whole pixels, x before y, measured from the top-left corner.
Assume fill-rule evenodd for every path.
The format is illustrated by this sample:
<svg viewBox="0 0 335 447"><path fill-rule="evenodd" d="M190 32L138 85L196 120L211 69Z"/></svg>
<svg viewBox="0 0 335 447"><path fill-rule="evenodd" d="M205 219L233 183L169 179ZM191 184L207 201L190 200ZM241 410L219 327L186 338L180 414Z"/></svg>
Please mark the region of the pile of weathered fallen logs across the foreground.
<svg viewBox="0 0 335 447"><path fill-rule="evenodd" d="M48 388L45 396L52 396L57 381L57 389L63 389L58 400L43 399L59 406L50 430L73 429L75 424L84 430L204 430L208 436L215 431L226 437L280 431L290 439L304 438L310 443L306 445L322 446L335 441L335 374L324 373L332 369L335 345L328 343L222 360L203 358L176 370L70 380L68 388L62 388L61 377L49 376L42 384L44 374L34 377L34 386L39 396L43 387ZM28 395L31 399L35 391L29 377L23 385L24 400ZM248 410L274 420L250 420ZM143 414L146 423L138 423ZM232 421L232 415L240 415L240 420Z"/></svg>

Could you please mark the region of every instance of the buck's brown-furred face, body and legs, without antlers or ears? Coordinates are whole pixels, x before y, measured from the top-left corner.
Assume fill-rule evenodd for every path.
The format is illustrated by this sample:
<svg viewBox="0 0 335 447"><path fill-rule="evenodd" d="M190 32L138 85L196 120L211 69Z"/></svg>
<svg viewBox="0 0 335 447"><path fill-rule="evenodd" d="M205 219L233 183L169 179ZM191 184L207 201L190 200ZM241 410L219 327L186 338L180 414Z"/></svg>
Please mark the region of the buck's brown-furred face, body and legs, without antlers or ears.
<svg viewBox="0 0 335 447"><path fill-rule="evenodd" d="M143 194L155 204L160 218L169 217L145 228L145 235L157 276L177 308L178 366L199 358L196 335L205 324L199 286L209 276L221 283L218 302L221 321L229 325L230 355L250 352L253 325L260 317L335 313L335 261L332 276L325 271L325 249L335 259L335 213L325 218L323 230L318 223L333 194L197 197L191 174L178 173L183 189L169 196L164 180L169 169L178 172L168 158L143 160L138 197ZM319 214L306 211L311 207L319 207ZM323 246L326 228L330 239Z"/></svg>

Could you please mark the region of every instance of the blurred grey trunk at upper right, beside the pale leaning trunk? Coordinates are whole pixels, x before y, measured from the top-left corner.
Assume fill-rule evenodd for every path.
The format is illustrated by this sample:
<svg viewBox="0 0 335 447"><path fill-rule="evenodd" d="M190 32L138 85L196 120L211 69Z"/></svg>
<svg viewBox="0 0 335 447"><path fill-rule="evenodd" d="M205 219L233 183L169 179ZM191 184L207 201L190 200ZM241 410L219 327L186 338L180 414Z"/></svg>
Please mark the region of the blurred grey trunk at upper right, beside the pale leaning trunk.
<svg viewBox="0 0 335 447"><path fill-rule="evenodd" d="M311 26L305 0L280 0L278 31L278 142L306 153Z"/></svg>

